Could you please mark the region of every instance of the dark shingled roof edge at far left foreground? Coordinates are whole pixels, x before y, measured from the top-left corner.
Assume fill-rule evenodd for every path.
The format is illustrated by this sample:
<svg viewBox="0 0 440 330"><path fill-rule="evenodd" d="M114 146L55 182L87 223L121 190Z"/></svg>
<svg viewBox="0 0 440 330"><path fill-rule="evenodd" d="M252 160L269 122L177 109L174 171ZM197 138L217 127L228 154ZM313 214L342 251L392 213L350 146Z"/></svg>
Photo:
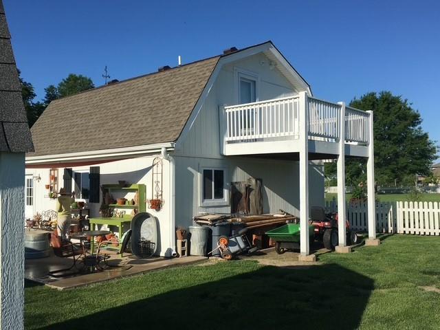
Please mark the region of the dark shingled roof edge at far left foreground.
<svg viewBox="0 0 440 330"><path fill-rule="evenodd" d="M34 151L5 10L0 0L0 151Z"/></svg>

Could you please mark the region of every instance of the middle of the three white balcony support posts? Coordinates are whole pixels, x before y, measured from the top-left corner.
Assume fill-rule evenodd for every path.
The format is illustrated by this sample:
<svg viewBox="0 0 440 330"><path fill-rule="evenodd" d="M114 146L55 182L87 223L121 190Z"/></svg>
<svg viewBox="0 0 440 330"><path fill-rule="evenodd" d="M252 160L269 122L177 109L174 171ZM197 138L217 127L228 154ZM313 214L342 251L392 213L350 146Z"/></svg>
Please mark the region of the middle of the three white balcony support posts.
<svg viewBox="0 0 440 330"><path fill-rule="evenodd" d="M345 210L345 103L341 105L339 122L339 145L338 145L338 245L343 248L347 245L347 228L345 221L347 212Z"/></svg>

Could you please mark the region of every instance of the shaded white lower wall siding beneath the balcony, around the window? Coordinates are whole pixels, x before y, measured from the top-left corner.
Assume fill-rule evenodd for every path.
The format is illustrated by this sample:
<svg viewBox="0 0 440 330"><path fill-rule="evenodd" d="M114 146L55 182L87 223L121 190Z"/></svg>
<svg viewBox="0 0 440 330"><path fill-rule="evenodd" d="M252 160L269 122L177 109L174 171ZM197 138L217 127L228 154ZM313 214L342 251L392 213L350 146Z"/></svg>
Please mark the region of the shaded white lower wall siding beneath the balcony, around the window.
<svg viewBox="0 0 440 330"><path fill-rule="evenodd" d="M200 212L229 213L228 206L202 207L199 203L201 168L227 169L225 181L263 179L263 210L278 212L281 208L299 215L298 162L252 158L196 158L176 156L176 225L188 226ZM324 206L324 180L321 166L309 166L310 200L313 206ZM227 187L229 190L229 186Z"/></svg>

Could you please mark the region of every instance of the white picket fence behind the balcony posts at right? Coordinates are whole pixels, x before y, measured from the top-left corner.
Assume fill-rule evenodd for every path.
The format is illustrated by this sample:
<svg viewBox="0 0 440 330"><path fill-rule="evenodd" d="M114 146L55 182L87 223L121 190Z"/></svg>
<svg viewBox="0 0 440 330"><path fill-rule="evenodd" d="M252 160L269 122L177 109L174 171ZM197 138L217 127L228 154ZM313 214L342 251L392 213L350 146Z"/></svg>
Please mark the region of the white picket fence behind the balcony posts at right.
<svg viewBox="0 0 440 330"><path fill-rule="evenodd" d="M327 212L338 212L335 199L326 201L325 208ZM367 231L366 203L347 202L347 219L354 230ZM439 236L440 204L431 201L376 202L376 231Z"/></svg>

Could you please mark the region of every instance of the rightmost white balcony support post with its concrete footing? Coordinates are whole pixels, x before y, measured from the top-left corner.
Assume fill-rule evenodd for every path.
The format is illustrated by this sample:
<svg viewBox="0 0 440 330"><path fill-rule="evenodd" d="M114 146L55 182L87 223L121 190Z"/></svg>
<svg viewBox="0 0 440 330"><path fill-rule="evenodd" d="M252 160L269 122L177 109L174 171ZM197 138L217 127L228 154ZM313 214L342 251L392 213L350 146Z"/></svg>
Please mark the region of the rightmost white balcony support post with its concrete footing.
<svg viewBox="0 0 440 330"><path fill-rule="evenodd" d="M366 245L379 245L380 240L376 239L376 206L374 195L374 133L373 133L373 111L369 113L369 159L366 162L366 184L369 214L369 239Z"/></svg>

